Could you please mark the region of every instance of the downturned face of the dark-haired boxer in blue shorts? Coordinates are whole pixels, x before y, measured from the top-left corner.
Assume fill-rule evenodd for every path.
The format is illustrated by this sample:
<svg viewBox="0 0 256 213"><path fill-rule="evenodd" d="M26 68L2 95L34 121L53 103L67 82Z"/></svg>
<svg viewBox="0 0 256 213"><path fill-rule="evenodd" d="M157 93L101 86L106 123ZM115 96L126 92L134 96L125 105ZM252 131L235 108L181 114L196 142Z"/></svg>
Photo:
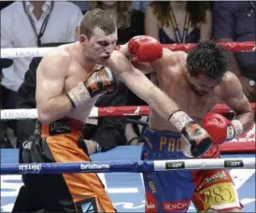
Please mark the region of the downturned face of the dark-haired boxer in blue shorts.
<svg viewBox="0 0 256 213"><path fill-rule="evenodd" d="M214 90L220 82L216 81L213 78L208 78L205 75L198 75L193 77L188 74L189 84L194 92L199 95L206 95L207 93Z"/></svg>

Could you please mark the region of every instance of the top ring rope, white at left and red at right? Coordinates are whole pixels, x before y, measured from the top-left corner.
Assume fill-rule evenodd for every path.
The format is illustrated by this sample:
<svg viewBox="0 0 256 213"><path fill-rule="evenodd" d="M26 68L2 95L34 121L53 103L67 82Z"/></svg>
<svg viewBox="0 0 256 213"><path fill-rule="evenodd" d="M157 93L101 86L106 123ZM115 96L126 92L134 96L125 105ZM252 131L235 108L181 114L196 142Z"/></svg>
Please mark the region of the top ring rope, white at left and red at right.
<svg viewBox="0 0 256 213"><path fill-rule="evenodd" d="M233 52L246 52L255 51L255 41L249 42L226 42L219 43L226 50L231 50ZM171 44L163 45L164 48L177 51L189 51L195 47L194 43L187 44ZM21 58L21 57L43 57L47 52L55 48L11 48L11 49L1 49L1 58Z"/></svg>

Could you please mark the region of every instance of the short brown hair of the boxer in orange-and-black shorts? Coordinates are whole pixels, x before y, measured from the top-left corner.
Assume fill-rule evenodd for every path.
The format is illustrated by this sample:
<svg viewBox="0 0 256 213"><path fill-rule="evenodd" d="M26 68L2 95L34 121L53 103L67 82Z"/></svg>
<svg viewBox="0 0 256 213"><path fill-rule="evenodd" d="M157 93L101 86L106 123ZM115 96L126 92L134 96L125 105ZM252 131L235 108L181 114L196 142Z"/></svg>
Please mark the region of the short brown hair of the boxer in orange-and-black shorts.
<svg viewBox="0 0 256 213"><path fill-rule="evenodd" d="M80 34L91 37L95 27L102 29L106 35L114 33L117 29L115 21L107 11L100 8L88 10L83 15L79 26Z"/></svg>

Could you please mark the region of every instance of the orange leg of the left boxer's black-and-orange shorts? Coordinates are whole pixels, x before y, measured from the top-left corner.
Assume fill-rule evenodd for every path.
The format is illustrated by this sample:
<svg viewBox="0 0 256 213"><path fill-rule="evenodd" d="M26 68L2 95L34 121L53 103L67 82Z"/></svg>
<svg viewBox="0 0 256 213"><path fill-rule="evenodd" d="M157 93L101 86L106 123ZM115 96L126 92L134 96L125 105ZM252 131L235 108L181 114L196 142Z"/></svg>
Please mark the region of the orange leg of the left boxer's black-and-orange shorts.
<svg viewBox="0 0 256 213"><path fill-rule="evenodd" d="M56 163L75 163L90 162L88 154L83 149L78 148L78 135L56 135L46 138L47 145L50 148L54 161ZM58 202L60 206L50 210L60 211L66 210L65 206L73 204L77 212L116 212L110 198L105 191L103 184L95 173L73 173L63 174L64 185L69 194L69 198L53 201ZM61 183L60 183L61 184ZM55 187L54 184L50 187ZM59 189L60 187L57 187ZM63 187L64 188L64 187ZM56 189L56 190L57 190ZM57 192L56 197L60 197L61 193ZM52 196L54 198L54 196ZM51 206L53 206L53 204ZM50 206L49 206L50 207Z"/></svg>

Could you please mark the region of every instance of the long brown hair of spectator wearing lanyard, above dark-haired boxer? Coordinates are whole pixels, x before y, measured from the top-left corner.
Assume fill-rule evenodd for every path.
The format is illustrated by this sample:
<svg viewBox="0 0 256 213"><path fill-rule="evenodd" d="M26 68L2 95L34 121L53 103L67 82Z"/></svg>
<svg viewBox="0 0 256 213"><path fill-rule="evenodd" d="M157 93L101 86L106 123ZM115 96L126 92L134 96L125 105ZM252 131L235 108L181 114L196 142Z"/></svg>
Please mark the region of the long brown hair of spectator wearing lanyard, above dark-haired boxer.
<svg viewBox="0 0 256 213"><path fill-rule="evenodd" d="M153 9L153 13L156 15L158 21L160 21L161 25L170 26L170 7L171 3L161 2L161 1L153 1L150 3L150 7ZM210 4L208 2L195 2L188 1L187 2L187 10L190 13L192 25L194 26L198 22L206 21L206 10L210 9Z"/></svg>

